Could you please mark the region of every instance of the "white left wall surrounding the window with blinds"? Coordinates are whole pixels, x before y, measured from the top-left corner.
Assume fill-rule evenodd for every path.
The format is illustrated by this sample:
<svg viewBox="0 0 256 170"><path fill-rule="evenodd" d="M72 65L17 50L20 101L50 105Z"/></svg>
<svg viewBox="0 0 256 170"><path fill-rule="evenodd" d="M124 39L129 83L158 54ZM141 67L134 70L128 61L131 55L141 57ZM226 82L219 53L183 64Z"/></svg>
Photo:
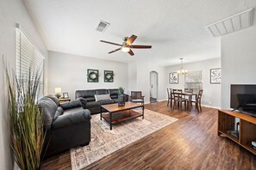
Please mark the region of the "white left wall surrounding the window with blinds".
<svg viewBox="0 0 256 170"><path fill-rule="evenodd" d="M13 160L9 149L9 131L5 126L4 121L7 112L7 94L4 83L4 70L3 59L6 62L10 70L16 68L16 23L20 23L22 28L27 33L28 37L32 39L35 45L40 48L43 55L47 58L47 50L44 43L34 27L34 22L28 15L28 11L25 8L21 0L1 0L0 1L0 167L1 169L12 169ZM47 68L47 62L46 62ZM5 87L6 88L6 87Z"/></svg>

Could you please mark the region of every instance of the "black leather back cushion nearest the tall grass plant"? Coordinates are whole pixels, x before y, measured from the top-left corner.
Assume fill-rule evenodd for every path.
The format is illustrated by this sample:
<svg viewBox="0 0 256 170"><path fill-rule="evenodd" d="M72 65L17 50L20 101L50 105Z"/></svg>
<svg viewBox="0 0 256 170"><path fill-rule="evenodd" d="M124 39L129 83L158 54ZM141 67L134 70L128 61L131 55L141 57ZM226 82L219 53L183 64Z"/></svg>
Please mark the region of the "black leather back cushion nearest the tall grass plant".
<svg viewBox="0 0 256 170"><path fill-rule="evenodd" d="M42 112L44 128L51 129L51 124L53 122L53 118L58 106L52 99L48 98L47 96L38 100L38 106Z"/></svg>

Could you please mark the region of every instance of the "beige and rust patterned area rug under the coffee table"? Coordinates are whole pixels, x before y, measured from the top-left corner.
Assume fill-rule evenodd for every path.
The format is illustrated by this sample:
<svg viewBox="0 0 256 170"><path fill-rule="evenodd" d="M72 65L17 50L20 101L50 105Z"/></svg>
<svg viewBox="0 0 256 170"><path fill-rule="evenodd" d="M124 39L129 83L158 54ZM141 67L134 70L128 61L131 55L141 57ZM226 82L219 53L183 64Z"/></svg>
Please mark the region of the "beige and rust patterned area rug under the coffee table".
<svg viewBox="0 0 256 170"><path fill-rule="evenodd" d="M137 110L137 112L141 112L140 110ZM112 131L109 130L109 124L105 120L100 120L100 114L92 115L91 143L87 146L70 150L72 170L86 167L104 156L122 149L128 144L134 143L134 141L178 120L147 109L144 110L144 113L144 119L139 117L120 124L114 124Z"/></svg>

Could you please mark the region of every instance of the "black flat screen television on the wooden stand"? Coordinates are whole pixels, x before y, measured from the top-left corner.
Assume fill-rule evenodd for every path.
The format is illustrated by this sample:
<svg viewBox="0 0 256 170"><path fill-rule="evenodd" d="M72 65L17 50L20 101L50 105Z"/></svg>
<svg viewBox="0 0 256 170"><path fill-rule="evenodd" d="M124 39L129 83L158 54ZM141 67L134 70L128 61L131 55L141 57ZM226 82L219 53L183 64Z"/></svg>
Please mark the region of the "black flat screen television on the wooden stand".
<svg viewBox="0 0 256 170"><path fill-rule="evenodd" d="M234 110L256 114L256 85L231 84L230 107Z"/></svg>

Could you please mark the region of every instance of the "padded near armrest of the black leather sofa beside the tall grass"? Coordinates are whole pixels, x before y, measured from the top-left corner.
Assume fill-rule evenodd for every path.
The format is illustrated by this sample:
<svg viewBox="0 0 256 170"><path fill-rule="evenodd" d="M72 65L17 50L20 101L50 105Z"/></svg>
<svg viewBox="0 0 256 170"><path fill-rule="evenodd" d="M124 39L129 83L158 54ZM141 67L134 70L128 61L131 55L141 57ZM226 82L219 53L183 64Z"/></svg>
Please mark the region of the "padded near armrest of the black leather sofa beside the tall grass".
<svg viewBox="0 0 256 170"><path fill-rule="evenodd" d="M74 124L83 124L90 122L91 112L88 109L84 109L72 114L64 114L55 118L52 124L52 130L59 128L65 128Z"/></svg>

